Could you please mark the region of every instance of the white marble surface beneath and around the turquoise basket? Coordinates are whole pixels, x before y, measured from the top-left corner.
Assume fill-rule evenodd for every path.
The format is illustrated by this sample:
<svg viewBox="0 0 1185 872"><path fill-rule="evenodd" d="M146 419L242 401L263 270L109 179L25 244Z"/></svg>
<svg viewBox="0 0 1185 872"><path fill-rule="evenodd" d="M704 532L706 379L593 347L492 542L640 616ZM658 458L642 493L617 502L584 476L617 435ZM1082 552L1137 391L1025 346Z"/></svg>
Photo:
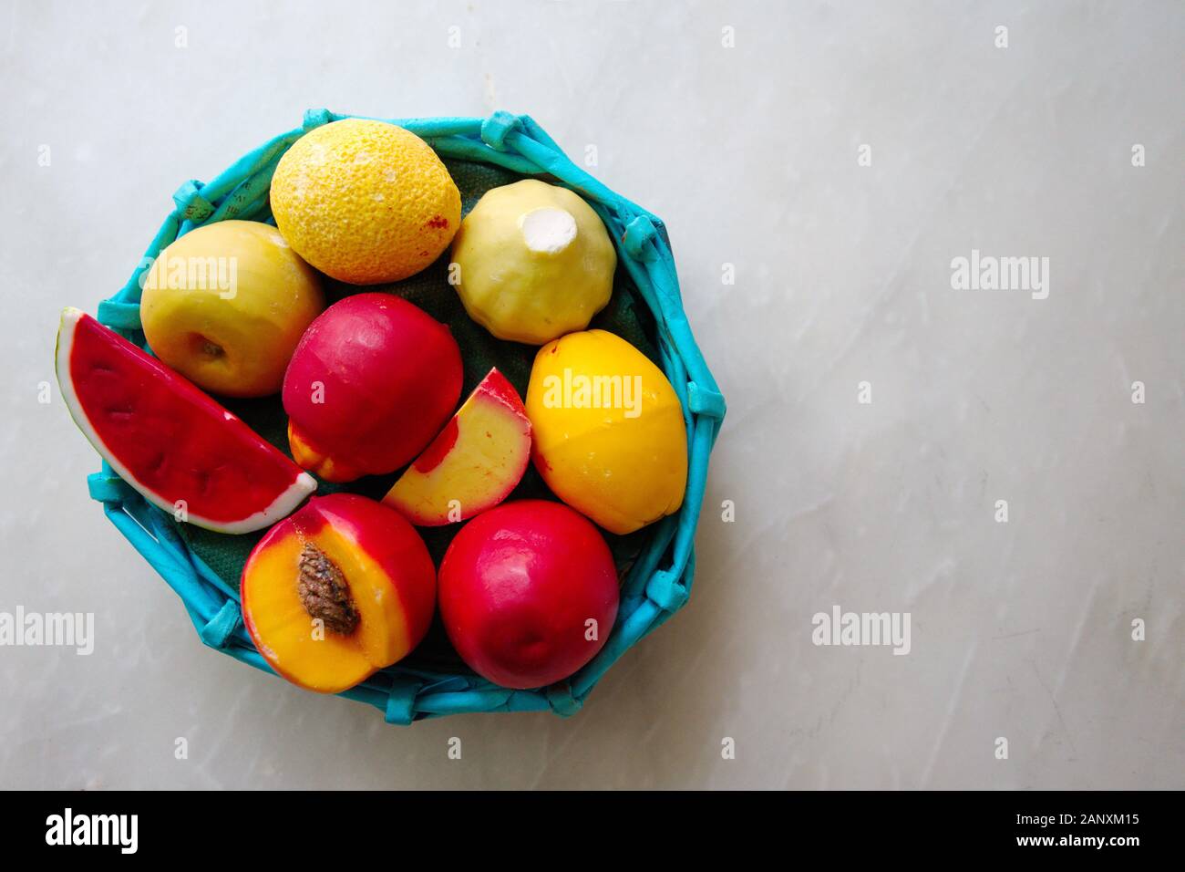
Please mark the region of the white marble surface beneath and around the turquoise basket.
<svg viewBox="0 0 1185 872"><path fill-rule="evenodd" d="M0 648L0 787L1185 787L1180 4L289 8L0 7L0 611L96 616ZM571 720L398 728L204 648L38 402L59 308L320 106L530 113L670 225L730 405L699 573ZM952 289L973 248L1048 299ZM833 604L909 655L814 645Z"/></svg>

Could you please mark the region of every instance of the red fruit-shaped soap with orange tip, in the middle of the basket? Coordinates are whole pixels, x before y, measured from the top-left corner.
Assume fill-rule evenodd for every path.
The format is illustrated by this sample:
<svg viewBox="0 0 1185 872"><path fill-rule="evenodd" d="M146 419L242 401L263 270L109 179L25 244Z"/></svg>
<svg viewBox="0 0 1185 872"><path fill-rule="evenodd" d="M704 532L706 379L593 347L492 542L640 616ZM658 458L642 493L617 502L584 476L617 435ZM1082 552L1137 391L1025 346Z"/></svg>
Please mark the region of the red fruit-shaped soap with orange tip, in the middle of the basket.
<svg viewBox="0 0 1185 872"><path fill-rule="evenodd" d="M288 364L293 457L329 482L393 472L444 426L461 380L447 326L391 294L347 297L313 322Z"/></svg>

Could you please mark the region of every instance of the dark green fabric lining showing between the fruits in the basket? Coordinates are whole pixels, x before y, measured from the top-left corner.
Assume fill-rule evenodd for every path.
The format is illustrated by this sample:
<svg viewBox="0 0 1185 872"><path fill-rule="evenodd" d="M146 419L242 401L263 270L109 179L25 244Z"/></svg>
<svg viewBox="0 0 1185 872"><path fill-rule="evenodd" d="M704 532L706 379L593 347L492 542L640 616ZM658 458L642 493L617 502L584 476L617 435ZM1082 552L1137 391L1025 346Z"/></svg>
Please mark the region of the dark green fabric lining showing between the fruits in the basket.
<svg viewBox="0 0 1185 872"><path fill-rule="evenodd" d="M478 164L468 160L444 159L453 180L456 182L461 191L461 215L468 215L469 210L476 205L478 199L492 187L508 185L519 180L523 176L513 173L497 166ZM257 219L275 223L270 214L261 215ZM453 337L461 346L461 359L465 364L465 386L461 389L461 399L469 395L478 383L486 376L491 367L497 367L505 375L519 396L526 399L526 386L531 377L531 364L534 361L538 348L524 345L517 342L506 342L493 337L483 326L474 322L461 305L461 298L456 289L448 282L449 254L446 250L435 263L416 273L409 279L390 285L370 285L358 287L345 282L335 281L328 276L322 276L326 291L326 303L332 305L342 297L354 293L382 291L396 294L414 303L438 322L449 326ZM608 330L628 340L636 349L642 351L652 362L661 368L658 351L654 346L654 316L646 307L645 301L638 297L638 289L633 280L624 269L619 268L614 276L613 297L609 305L604 307L589 325L590 329ZM231 412L243 419L256 433L262 435L273 445L277 446L289 457L288 448L288 416L284 414L280 396L269 396L260 400L233 400L219 397L220 402ZM382 499L383 495L391 488L396 478L403 470L398 470L387 476L367 476L357 482L335 484L318 478L316 495L334 494L337 491L351 491L364 496ZM315 495L314 495L315 496ZM545 498L557 497L543 483L543 478L536 471L534 465L527 466L523 480L507 497L507 499ZM245 535L229 535L204 530L193 524L173 522L181 539L190 546L190 549L205 561L206 566L218 573L218 577L232 588L238 588L239 577L248 555L255 543L263 537L267 530L249 533ZM462 524L448 524L446 527L418 527L416 528L428 545L428 550L433 560L440 566L441 559L453 536L461 529ZM629 535L619 536L607 530L601 530L606 541L613 550L617 562L619 574L624 574L646 539L646 529L638 530ZM440 617L433 622L433 628L427 638L403 661L405 666L425 666L441 668L466 668L460 657L453 651L444 630L440 624Z"/></svg>

